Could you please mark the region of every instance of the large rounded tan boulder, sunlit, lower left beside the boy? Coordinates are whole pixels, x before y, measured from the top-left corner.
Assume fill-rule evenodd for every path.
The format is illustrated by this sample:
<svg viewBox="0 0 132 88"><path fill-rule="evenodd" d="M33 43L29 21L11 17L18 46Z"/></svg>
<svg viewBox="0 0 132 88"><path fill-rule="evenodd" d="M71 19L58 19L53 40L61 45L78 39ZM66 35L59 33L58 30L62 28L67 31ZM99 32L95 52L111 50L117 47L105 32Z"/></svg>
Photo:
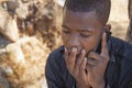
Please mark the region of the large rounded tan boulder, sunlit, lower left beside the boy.
<svg viewBox="0 0 132 88"><path fill-rule="evenodd" d="M9 58L2 66L4 77L22 88L41 88L38 79L44 76L50 50L33 36L9 44L6 51L9 53Z"/></svg>

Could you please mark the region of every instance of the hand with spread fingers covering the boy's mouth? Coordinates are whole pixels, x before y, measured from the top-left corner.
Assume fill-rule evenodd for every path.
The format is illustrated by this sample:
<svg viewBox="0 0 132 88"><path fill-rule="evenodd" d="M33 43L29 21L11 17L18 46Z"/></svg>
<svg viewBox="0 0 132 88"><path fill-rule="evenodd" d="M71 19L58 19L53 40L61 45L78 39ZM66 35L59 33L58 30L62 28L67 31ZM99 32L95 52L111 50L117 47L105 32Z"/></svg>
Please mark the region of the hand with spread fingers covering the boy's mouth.
<svg viewBox="0 0 132 88"><path fill-rule="evenodd" d="M73 47L69 54L67 48L65 48L65 62L67 69L72 76L76 79L77 88L90 88L87 80L86 64L87 58L85 58L86 51L82 50L81 54L77 58L77 48Z"/></svg>

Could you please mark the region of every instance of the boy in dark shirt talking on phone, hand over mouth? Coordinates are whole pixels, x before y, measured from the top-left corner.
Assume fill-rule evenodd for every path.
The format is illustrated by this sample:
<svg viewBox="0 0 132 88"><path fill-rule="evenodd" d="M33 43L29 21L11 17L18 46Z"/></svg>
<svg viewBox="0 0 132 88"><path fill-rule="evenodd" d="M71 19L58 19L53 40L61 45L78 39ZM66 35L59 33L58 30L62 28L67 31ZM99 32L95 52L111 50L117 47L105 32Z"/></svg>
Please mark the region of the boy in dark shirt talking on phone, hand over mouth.
<svg viewBox="0 0 132 88"><path fill-rule="evenodd" d="M132 87L132 46L107 35L110 7L110 0L66 1L64 46L46 63L48 88Z"/></svg>

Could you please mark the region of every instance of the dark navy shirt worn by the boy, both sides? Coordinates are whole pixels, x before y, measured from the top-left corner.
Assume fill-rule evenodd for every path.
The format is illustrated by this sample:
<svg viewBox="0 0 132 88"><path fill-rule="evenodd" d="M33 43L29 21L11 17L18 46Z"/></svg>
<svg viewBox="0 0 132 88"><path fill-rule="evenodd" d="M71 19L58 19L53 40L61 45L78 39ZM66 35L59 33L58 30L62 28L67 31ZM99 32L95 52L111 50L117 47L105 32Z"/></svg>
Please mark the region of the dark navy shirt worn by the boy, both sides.
<svg viewBox="0 0 132 88"><path fill-rule="evenodd" d="M111 36L108 51L110 61L105 74L106 84L109 88L132 88L132 45ZM76 88L76 80L66 68L64 46L50 54L45 76L48 88Z"/></svg>

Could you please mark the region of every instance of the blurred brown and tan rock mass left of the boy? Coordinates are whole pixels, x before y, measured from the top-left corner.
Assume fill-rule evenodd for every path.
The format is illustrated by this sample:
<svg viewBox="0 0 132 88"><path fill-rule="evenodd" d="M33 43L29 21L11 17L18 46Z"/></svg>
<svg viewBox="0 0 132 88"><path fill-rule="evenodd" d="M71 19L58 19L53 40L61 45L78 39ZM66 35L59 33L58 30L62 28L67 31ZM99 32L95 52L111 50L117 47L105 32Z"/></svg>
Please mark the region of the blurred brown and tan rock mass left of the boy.
<svg viewBox="0 0 132 88"><path fill-rule="evenodd" d="M8 12L12 10L0 9L0 32L10 40L0 54L1 76L10 82L10 88L47 88L44 68L50 52L61 45L61 28L56 22L61 12L55 11L54 0L11 1L19 2L19 7L7 6L15 10L14 16ZM9 26L14 30L10 31Z"/></svg>

